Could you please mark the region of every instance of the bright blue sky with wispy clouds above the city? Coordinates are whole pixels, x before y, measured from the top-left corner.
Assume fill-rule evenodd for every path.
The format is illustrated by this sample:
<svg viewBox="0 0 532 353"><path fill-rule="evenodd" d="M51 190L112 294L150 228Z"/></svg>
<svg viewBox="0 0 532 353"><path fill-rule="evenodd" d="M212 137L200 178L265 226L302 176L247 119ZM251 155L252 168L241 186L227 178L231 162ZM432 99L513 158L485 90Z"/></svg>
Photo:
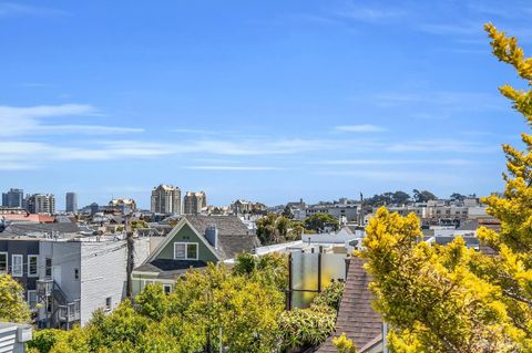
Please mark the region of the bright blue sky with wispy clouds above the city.
<svg viewBox="0 0 532 353"><path fill-rule="evenodd" d="M0 189L269 205L502 188L530 1L0 2Z"/></svg>

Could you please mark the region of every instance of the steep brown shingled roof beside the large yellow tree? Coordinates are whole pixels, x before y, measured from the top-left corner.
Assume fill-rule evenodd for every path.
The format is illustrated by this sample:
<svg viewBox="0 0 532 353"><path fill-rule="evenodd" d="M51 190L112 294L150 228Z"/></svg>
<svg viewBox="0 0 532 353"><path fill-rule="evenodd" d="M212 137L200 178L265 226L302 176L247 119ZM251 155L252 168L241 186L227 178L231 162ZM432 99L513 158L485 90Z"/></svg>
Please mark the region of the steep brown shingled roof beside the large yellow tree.
<svg viewBox="0 0 532 353"><path fill-rule="evenodd" d="M371 308L374 294L368 288L370 276L364 269L364 260L352 257L349 260L346 289L340 301L336 332L332 336L346 333L358 349L368 346L382 334L382 320ZM318 347L318 353L337 353L332 336Z"/></svg>

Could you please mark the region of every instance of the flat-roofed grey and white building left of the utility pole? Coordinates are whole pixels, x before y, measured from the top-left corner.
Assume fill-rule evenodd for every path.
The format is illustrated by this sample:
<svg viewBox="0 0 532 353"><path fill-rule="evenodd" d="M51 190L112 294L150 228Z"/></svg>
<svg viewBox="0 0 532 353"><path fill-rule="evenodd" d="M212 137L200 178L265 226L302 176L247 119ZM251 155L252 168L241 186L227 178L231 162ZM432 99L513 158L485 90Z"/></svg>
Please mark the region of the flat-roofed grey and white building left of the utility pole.
<svg viewBox="0 0 532 353"><path fill-rule="evenodd" d="M9 229L0 233L0 272L11 273L23 285L30 308L41 304L34 310L39 326L83 325L94 310L111 311L125 298L123 236ZM136 238L134 263L142 263L149 251L150 239Z"/></svg>

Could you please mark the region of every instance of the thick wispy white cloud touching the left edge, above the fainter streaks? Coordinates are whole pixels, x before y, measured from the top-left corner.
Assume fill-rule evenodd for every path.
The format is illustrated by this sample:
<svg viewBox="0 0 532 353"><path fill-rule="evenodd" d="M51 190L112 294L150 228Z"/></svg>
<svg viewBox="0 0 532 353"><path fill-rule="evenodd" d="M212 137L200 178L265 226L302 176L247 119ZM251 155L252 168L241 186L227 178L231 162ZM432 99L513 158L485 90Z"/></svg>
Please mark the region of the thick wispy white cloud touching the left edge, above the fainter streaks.
<svg viewBox="0 0 532 353"><path fill-rule="evenodd" d="M16 137L28 135L54 134L125 134L140 133L144 129L122 126L88 124L51 124L52 117L101 116L102 114L89 104L62 104L38 106L0 106L0 136Z"/></svg>

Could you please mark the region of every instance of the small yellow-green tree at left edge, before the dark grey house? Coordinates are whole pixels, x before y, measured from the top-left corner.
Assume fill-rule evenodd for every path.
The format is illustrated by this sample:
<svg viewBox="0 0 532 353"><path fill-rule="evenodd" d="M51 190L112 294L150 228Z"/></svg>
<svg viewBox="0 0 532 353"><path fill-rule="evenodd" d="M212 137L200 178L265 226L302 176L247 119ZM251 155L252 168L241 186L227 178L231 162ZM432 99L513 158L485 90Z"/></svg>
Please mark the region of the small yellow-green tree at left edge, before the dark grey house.
<svg viewBox="0 0 532 353"><path fill-rule="evenodd" d="M30 321L24 289L9 274L0 274L0 321Z"/></svg>

